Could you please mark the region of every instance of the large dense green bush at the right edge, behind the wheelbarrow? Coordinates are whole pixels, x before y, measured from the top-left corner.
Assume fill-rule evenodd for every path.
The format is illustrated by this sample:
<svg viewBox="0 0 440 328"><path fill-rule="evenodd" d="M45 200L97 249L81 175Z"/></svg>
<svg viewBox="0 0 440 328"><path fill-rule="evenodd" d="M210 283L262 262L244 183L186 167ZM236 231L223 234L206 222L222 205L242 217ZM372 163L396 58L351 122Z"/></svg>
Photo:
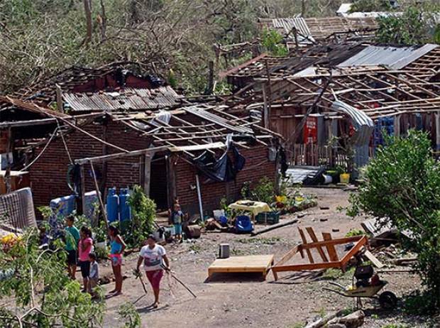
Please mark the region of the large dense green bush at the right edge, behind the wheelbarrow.
<svg viewBox="0 0 440 328"><path fill-rule="evenodd" d="M351 197L351 212L386 218L400 231L411 231L404 247L417 253L428 309L440 306L440 163L427 133L387 137L365 170L365 183Z"/></svg>

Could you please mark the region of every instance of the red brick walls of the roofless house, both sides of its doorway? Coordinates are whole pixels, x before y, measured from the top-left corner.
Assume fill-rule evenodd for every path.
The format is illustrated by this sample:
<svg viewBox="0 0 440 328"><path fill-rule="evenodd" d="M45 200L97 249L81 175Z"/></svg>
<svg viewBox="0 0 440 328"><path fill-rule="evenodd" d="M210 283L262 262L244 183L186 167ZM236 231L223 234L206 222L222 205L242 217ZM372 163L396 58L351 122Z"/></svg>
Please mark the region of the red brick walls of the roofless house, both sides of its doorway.
<svg viewBox="0 0 440 328"><path fill-rule="evenodd" d="M82 129L92 133L94 136L103 138L103 127L101 125L89 124ZM73 160L99 156L104 153L102 143L79 131L68 134L65 136L65 140ZM107 141L129 151L147 148L149 143L147 138L140 137L136 131L114 121L108 122ZM39 148L35 155L41 149ZM206 177L200 177L202 201L205 211L218 208L220 199L224 196L228 196L230 201L238 199L244 182L251 181L252 185L255 185L264 176L275 180L275 162L268 160L267 147L257 145L251 149L241 148L240 152L246 158L246 165L238 173L235 182L207 182ZM108 147L108 153L119 153L119 151ZM178 158L175 163L176 191L177 196L180 198L180 203L185 211L197 214L199 212L197 189L195 189L197 170L193 165L181 158ZM29 169L35 207L48 205L51 199L72 193L67 186L68 165L69 158L67 157L65 147L62 140L57 138L50 143L43 155ZM100 182L102 165L97 163L94 165L94 168ZM107 162L105 187L119 188L139 185L141 184L141 169L141 160L138 156L110 160ZM89 165L84 165L84 172L86 173L86 190L94 190ZM166 197L165 161L160 160L152 163L151 175L151 188L154 190L154 193L160 195L161 198ZM160 186L153 186L153 184Z"/></svg>

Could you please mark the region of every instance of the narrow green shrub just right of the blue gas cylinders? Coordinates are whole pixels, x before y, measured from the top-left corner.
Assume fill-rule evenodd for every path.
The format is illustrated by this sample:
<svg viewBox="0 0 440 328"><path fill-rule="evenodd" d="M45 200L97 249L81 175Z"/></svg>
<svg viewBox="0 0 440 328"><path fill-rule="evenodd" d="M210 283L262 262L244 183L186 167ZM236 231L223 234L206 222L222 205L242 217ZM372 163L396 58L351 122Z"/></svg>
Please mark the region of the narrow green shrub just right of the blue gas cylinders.
<svg viewBox="0 0 440 328"><path fill-rule="evenodd" d="M131 229L124 234L124 240L130 246L139 246L154 230L156 204L138 185L133 187L128 204L131 207L132 220Z"/></svg>

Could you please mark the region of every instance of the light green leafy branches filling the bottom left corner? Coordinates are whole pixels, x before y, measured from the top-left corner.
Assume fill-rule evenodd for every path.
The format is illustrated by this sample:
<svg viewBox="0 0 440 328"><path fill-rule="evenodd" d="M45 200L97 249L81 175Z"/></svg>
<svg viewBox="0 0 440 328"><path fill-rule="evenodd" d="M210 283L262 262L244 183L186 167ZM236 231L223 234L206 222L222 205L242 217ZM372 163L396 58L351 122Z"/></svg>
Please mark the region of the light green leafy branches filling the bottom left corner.
<svg viewBox="0 0 440 328"><path fill-rule="evenodd" d="M0 297L11 297L1 310L7 327L19 327L18 317L26 327L94 327L102 321L103 302L92 302L81 293L77 281L65 274L66 253L60 240L55 250L38 248L35 229L26 232L13 246L0 248L2 272L13 275L0 280Z"/></svg>

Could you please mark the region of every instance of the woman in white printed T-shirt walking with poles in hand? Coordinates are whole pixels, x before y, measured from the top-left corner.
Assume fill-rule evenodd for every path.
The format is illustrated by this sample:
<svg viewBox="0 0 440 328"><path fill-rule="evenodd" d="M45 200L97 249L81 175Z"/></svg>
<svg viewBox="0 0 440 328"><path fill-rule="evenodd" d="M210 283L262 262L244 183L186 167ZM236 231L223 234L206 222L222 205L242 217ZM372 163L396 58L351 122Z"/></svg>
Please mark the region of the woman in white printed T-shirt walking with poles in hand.
<svg viewBox="0 0 440 328"><path fill-rule="evenodd" d="M163 262L165 262L165 266ZM160 280L163 277L163 269L170 270L170 261L168 261L165 248L156 244L155 236L152 234L148 236L147 245L141 248L137 270L139 270L142 263L148 281L153 288L154 303L152 307L156 309L159 305Z"/></svg>

